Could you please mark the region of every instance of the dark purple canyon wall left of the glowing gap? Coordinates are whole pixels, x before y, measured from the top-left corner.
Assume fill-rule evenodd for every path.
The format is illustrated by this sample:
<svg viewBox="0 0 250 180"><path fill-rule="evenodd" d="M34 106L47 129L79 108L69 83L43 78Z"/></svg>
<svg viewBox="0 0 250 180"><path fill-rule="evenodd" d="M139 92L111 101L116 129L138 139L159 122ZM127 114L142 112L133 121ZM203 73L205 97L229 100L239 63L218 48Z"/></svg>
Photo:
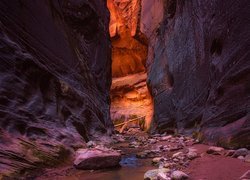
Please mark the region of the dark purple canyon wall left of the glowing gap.
<svg viewBox="0 0 250 180"><path fill-rule="evenodd" d="M0 2L0 179L109 135L106 3Z"/></svg>

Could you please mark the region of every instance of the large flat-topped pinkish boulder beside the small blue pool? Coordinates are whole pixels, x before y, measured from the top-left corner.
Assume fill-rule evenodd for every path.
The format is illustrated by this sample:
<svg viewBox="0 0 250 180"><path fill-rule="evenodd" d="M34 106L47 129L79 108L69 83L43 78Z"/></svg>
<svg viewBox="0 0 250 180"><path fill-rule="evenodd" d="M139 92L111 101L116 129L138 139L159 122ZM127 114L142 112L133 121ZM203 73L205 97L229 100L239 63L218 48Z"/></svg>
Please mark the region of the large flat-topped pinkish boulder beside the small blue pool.
<svg viewBox="0 0 250 180"><path fill-rule="evenodd" d="M77 169L103 169L119 166L121 154L111 149L79 149L74 166Z"/></svg>

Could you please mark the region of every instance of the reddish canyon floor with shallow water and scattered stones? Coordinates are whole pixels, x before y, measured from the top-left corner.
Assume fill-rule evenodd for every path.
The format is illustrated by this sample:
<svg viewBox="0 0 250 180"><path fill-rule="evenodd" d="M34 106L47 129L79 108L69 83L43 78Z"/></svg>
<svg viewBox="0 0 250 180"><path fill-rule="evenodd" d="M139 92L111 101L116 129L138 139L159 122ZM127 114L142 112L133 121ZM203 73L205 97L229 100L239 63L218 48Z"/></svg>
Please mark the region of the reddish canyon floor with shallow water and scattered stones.
<svg viewBox="0 0 250 180"><path fill-rule="evenodd" d="M249 155L244 149L225 150L199 143L191 137L154 135L133 130L113 137L111 147L122 154L120 167L103 170L77 170L70 163L46 170L37 180L138 180L153 169L179 170L193 180L236 180L250 170ZM249 153L249 152L248 152ZM248 162L247 162L248 161ZM149 173L150 174L150 173ZM164 179L164 177L155 177ZM173 177L172 177L173 179ZM185 179L185 177L184 177Z"/></svg>

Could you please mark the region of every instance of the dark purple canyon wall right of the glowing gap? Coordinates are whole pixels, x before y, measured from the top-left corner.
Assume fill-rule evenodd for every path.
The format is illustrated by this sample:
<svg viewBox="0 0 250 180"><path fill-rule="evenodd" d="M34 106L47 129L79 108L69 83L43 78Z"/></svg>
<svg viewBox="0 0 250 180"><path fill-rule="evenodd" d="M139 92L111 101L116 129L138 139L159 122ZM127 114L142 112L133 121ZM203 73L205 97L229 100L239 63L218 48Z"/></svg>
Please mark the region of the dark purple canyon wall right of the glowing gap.
<svg viewBox="0 0 250 180"><path fill-rule="evenodd" d="M250 2L142 2L153 130L249 147Z"/></svg>

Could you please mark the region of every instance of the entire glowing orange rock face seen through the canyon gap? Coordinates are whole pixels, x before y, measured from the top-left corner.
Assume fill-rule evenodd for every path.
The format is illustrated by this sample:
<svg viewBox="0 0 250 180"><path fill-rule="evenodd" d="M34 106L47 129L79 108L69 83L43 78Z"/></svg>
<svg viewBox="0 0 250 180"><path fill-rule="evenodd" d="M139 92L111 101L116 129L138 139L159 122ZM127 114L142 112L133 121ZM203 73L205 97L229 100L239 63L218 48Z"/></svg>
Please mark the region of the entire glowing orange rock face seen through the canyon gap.
<svg viewBox="0 0 250 180"><path fill-rule="evenodd" d="M116 123L145 116L152 118L146 85L148 41L140 30L141 0L108 0L112 42L111 117Z"/></svg>

